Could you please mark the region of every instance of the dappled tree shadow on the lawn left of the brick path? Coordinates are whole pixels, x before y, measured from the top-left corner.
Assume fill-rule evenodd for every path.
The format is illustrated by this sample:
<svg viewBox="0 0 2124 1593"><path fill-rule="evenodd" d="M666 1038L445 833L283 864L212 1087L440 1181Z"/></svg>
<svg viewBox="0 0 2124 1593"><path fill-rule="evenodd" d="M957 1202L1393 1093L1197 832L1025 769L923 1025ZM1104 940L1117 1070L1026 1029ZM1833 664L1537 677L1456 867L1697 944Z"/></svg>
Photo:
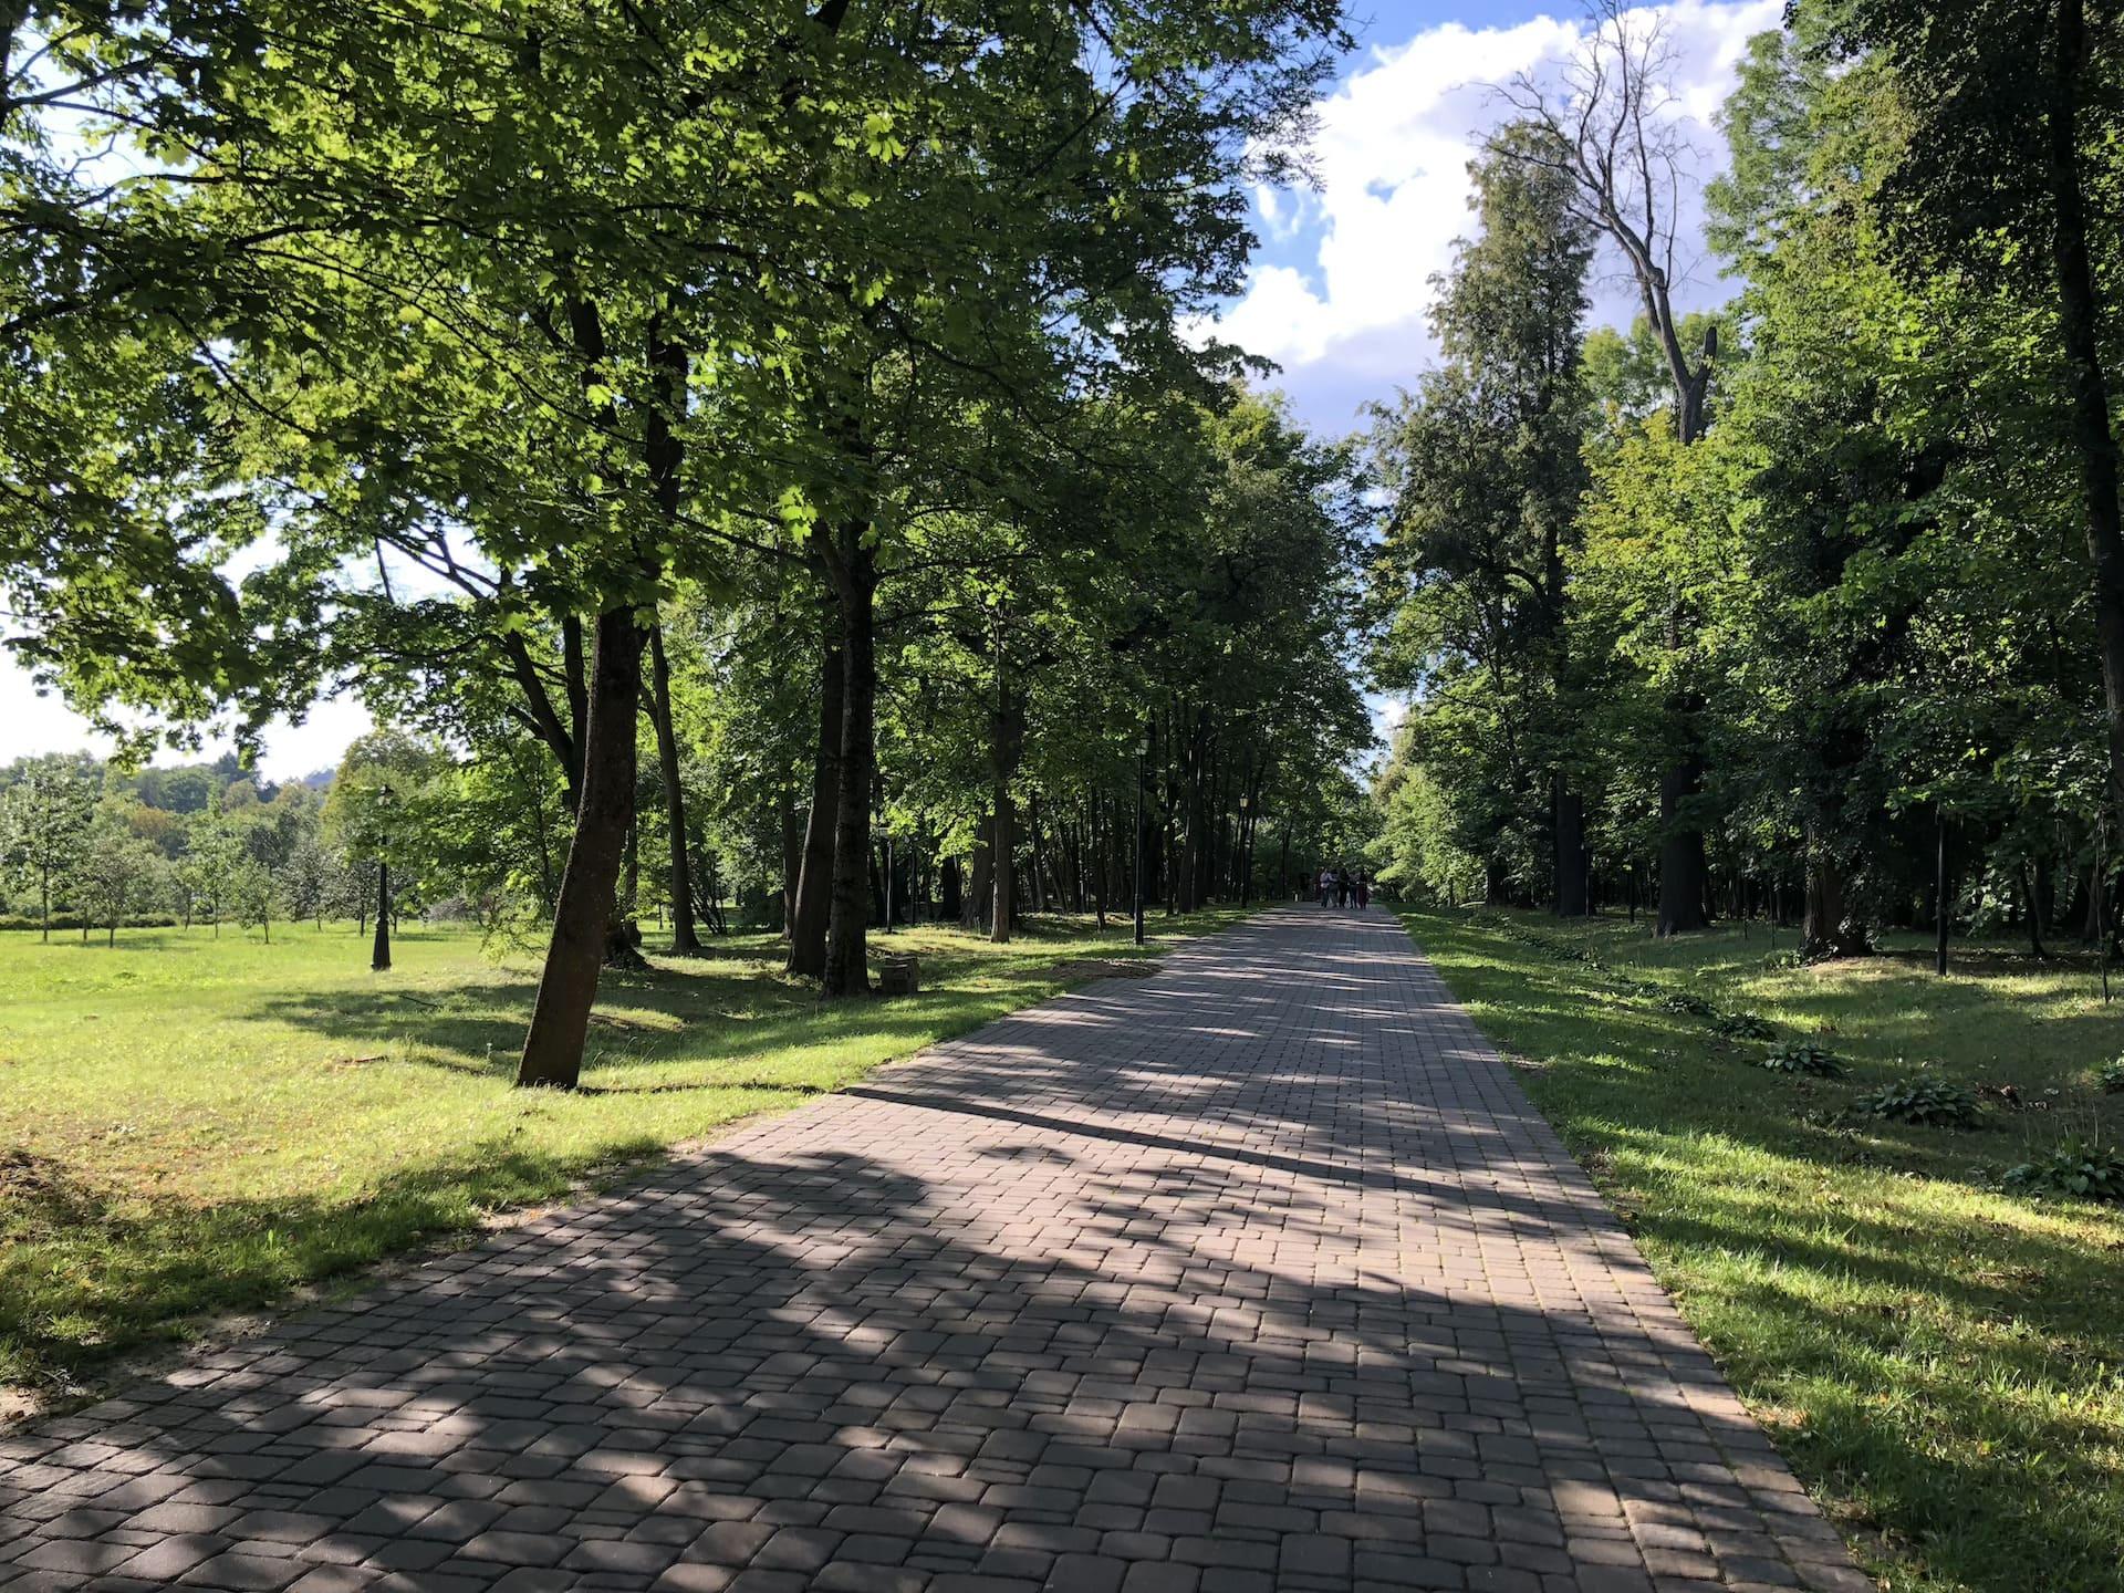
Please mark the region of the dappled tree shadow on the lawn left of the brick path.
<svg viewBox="0 0 2124 1593"><path fill-rule="evenodd" d="M1060 977L1047 947L1081 943L1081 935L1060 928L1026 949L924 935L924 960L943 986L911 998L824 1005L816 990L780 977L771 937L718 945L707 958L646 975L607 975L584 1087L576 1092L605 1107L601 1117L578 1119L586 1143L573 1151L489 1134L442 1155L423 1151L416 1166L378 1172L331 1200L189 1200L149 1179L93 1185L51 1158L23 1153L0 1164L0 1383L51 1385L89 1374L113 1355L183 1332L187 1317L266 1304L431 1234L474 1228L486 1213L548 1200L614 1162L635 1164L690 1136L684 1128L631 1136L629 1100L699 1098L701 1111L688 1104L686 1121L705 1130L824 1094L879 1060L952 1039L1034 998L1039 990L1026 979ZM964 947L952 943L958 939ZM497 1100L514 1073L535 988L518 969L423 975L404 986L276 988L255 998L242 992L229 1022L285 1024L323 1041L316 1068L404 1062L491 1081L493 1096L484 1083L476 1090ZM663 1121L673 1119L667 1113Z"/></svg>

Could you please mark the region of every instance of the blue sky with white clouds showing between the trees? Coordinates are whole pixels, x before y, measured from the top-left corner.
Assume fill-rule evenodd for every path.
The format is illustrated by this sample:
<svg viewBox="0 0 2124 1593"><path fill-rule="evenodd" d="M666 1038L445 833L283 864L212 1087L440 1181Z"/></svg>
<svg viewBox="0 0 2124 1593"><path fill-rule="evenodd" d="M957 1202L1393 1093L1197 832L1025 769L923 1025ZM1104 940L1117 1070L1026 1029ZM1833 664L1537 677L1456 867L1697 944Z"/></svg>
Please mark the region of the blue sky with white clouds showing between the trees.
<svg viewBox="0 0 2124 1593"><path fill-rule="evenodd" d="M1780 11L1782 0L1659 6L1674 47L1676 100L1699 151L1691 187L1718 168L1710 119L1731 89L1742 45L1776 28ZM1287 393L1315 429L1361 427L1368 401L1391 399L1436 359L1425 325L1429 278L1468 232L1466 164L1504 115L1487 85L1563 59L1578 40L1580 15L1570 2L1359 0L1357 49L1317 106L1319 183L1255 193L1262 246L1247 291L1219 319L1221 336L1281 365L1268 384ZM1684 225L1684 234L1693 232ZM1678 297L1684 306L1716 304L1727 289L1710 263L1697 263ZM1633 289L1614 261L1604 261L1593 316L1627 323L1633 312ZM38 697L6 658L0 726L0 760L104 750L79 716ZM336 765L363 729L359 705L321 703L306 724L268 735L261 769L289 780Z"/></svg>

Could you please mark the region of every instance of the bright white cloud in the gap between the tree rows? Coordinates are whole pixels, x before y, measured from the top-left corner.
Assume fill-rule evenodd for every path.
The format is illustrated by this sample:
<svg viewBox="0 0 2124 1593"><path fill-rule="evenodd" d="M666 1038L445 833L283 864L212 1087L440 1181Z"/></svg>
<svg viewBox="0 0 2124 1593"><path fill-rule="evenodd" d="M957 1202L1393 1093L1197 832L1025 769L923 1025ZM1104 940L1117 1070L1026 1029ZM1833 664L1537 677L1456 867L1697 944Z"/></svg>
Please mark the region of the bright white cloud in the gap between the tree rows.
<svg viewBox="0 0 2124 1593"><path fill-rule="evenodd" d="M1746 40L1778 25L1782 0L1674 0L1661 11L1676 51L1676 100L1695 123L1697 176L1708 178L1723 151L1710 117L1733 85ZM1578 21L1538 17L1514 28L1444 23L1406 45L1374 49L1370 64L1317 106L1319 193L1255 195L1272 238L1289 238L1298 217L1311 223L1313 268L1255 268L1217 333L1281 363L1281 384L1302 406L1308 391L1387 397L1395 380L1410 380L1434 357L1429 278L1474 225L1468 159L1483 134L1510 115L1491 85L1565 59L1578 38ZM1697 221L1691 202L1684 240L1697 234ZM1595 316L1627 321L1638 308L1635 289L1614 261L1597 270ZM1682 289L1684 302L1723 297L1708 272Z"/></svg>

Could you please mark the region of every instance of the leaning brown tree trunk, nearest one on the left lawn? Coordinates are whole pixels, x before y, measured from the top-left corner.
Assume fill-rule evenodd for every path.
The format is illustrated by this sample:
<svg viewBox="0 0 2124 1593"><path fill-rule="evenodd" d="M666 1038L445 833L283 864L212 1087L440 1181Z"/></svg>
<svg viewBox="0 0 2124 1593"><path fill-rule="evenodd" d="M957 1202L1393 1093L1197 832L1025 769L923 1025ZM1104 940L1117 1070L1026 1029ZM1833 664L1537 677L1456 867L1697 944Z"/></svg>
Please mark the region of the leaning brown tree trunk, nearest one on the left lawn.
<svg viewBox="0 0 2124 1593"><path fill-rule="evenodd" d="M539 975L518 1085L571 1090L582 1077L582 1041L605 962L612 892L635 818L635 712L641 695L641 629L633 610L597 616L588 716L582 733L582 801L561 873L546 971Z"/></svg>

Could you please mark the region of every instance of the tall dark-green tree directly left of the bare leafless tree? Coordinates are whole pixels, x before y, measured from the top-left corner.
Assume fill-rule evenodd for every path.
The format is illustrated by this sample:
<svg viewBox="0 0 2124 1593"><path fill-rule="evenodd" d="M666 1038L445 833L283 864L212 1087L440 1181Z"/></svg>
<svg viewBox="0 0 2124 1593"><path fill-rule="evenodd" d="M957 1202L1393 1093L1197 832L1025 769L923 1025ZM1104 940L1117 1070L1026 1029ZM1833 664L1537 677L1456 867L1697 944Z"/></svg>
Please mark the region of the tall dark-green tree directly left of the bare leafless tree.
<svg viewBox="0 0 2124 1593"><path fill-rule="evenodd" d="M1429 688L1485 692L1502 735L1457 743L1468 756L1449 784L1470 796L1487 784L1474 805L1489 813L1491 879L1514 871L1521 788L1540 782L1551 905L1585 913L1565 552L1585 489L1580 323L1593 225L1561 153L1546 127L1517 123L1474 161L1480 232L1459 246L1432 312L1446 365L1374 433L1393 493L1381 576L1391 601L1415 605L1387 631L1381 665L1432 705Z"/></svg>

